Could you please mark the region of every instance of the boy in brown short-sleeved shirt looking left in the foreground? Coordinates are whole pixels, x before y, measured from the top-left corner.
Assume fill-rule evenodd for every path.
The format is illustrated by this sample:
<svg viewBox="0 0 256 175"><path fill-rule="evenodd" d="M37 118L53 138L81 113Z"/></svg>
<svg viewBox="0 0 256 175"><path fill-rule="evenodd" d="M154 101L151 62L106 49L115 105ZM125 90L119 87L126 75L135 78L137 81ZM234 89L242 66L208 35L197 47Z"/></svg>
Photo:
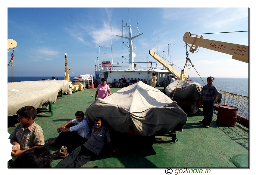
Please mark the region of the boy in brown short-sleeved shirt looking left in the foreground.
<svg viewBox="0 0 256 175"><path fill-rule="evenodd" d="M37 111L33 106L20 108L18 114L18 124L11 133L12 156L20 155L28 149L36 148L45 144L42 128L34 122Z"/></svg>

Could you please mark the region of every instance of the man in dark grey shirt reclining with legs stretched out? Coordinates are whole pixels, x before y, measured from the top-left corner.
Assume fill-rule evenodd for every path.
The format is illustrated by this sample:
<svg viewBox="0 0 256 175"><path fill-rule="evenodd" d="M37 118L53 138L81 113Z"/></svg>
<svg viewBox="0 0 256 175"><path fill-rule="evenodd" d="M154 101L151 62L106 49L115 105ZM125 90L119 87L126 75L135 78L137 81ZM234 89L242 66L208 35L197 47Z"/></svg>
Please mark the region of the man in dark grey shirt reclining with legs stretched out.
<svg viewBox="0 0 256 175"><path fill-rule="evenodd" d="M62 160L56 167L81 167L91 160L91 157L100 153L105 144L105 140L109 143L112 152L119 151L112 149L110 134L108 128L103 125L103 119L96 117L94 119L94 126L92 127L92 135L83 145L73 150L64 160Z"/></svg>

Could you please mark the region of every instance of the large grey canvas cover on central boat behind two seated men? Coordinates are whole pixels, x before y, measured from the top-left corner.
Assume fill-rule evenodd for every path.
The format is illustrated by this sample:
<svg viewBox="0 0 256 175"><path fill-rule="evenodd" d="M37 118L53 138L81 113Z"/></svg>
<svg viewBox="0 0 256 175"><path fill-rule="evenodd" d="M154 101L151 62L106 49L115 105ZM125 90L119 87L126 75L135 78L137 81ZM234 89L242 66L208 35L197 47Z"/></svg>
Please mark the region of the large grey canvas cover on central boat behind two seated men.
<svg viewBox="0 0 256 175"><path fill-rule="evenodd" d="M182 131L187 122L186 113L176 102L141 81L97 99L85 114L90 123L102 117L115 131L134 130L142 136Z"/></svg>

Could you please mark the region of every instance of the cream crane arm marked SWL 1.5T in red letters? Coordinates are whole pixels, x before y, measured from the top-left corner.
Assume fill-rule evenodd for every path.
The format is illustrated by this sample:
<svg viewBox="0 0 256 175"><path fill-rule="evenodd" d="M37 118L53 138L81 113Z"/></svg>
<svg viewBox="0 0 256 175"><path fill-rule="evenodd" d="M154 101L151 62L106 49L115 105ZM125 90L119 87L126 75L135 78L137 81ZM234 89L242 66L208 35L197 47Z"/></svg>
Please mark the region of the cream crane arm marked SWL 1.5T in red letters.
<svg viewBox="0 0 256 175"><path fill-rule="evenodd" d="M226 43L222 41L215 41L203 38L203 36L196 37L191 36L190 32L186 32L183 36L183 41L186 44L191 44L189 51L194 53L197 47L203 47L210 50L215 50L217 52L226 53L232 55L232 59L236 59L242 62L249 63L248 53L249 49L248 46L240 45L240 44L233 44L233 43ZM194 47L194 48L193 48Z"/></svg>

